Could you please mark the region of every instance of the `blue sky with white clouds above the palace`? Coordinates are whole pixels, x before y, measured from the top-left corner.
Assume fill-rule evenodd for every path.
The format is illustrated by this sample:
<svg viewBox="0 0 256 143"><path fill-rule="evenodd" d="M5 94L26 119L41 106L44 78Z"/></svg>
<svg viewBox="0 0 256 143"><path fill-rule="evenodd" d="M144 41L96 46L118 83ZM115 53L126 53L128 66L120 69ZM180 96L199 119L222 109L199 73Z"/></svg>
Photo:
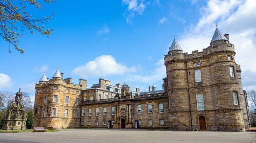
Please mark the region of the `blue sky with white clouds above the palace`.
<svg viewBox="0 0 256 143"><path fill-rule="evenodd" d="M244 89L256 89L256 2L245 1L56 1L44 10L28 6L34 17L52 12L46 23L54 28L49 38L24 32L19 37L24 54L0 40L0 90L19 88L34 96L34 85L44 71L51 78L59 66L64 78L88 87L99 78L111 84L129 84L133 90L162 89L166 77L163 57L173 35L184 52L209 46L215 23L229 33L235 45L236 63L241 65Z"/></svg>

